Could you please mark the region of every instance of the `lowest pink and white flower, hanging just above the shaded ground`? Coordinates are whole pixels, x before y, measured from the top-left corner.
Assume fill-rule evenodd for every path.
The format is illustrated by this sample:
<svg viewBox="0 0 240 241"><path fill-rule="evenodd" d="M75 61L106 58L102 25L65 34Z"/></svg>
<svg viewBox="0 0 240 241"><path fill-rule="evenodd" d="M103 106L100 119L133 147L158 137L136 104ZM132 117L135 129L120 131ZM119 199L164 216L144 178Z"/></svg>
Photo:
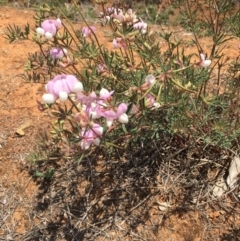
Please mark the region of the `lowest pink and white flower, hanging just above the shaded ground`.
<svg viewBox="0 0 240 241"><path fill-rule="evenodd" d="M103 134L103 127L101 127L99 124L94 123L92 127L89 128L82 128L81 131L81 143L80 146L82 150L87 150L89 147L94 144L96 146L99 146L101 137Z"/></svg>

